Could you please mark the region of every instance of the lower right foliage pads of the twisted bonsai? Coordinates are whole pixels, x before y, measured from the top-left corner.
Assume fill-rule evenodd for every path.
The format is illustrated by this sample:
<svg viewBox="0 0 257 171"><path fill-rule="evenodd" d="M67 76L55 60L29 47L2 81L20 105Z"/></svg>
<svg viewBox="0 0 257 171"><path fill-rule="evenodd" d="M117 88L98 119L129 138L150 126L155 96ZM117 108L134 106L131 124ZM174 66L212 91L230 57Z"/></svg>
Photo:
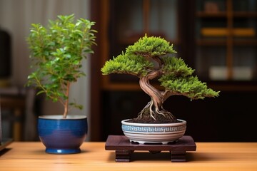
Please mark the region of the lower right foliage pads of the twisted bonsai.
<svg viewBox="0 0 257 171"><path fill-rule="evenodd" d="M174 95L186 95L191 99L203 99L205 97L216 97L218 92L207 88L206 83L198 80L193 75L193 69L188 67L181 58L163 58L165 63L163 75L158 81L166 90Z"/></svg>

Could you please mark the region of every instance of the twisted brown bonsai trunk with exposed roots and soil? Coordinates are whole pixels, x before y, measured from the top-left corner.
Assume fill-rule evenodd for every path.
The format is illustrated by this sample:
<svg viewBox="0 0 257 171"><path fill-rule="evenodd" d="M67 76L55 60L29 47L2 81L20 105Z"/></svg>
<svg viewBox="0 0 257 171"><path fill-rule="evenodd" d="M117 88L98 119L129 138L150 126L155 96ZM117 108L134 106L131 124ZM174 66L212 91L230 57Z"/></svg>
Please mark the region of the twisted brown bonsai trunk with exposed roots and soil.
<svg viewBox="0 0 257 171"><path fill-rule="evenodd" d="M138 113L136 120L147 120L151 123L176 123L176 118L167 110L163 109L163 103L167 99L168 93L154 88L149 83L150 80L161 75L161 69L158 71L150 71L148 75L140 78L139 85L141 89L151 97L145 108Z"/></svg>

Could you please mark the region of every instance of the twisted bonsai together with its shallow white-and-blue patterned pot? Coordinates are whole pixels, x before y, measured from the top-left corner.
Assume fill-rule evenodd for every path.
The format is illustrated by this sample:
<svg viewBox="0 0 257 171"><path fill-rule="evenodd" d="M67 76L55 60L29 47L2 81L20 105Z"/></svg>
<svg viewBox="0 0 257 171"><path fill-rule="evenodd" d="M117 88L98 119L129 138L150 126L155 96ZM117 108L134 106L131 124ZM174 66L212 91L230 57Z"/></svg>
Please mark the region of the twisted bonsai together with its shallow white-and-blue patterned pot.
<svg viewBox="0 0 257 171"><path fill-rule="evenodd" d="M194 70L183 59L173 57L173 53L176 53L173 45L164 38L145 35L101 68L104 75L126 73L137 76L141 89L151 97L137 118L121 121L124 135L130 141L166 144L178 140L186 131L186 120L177 119L163 108L163 103L172 95L195 100L219 94L193 76ZM159 85L152 85L150 81L153 80Z"/></svg>

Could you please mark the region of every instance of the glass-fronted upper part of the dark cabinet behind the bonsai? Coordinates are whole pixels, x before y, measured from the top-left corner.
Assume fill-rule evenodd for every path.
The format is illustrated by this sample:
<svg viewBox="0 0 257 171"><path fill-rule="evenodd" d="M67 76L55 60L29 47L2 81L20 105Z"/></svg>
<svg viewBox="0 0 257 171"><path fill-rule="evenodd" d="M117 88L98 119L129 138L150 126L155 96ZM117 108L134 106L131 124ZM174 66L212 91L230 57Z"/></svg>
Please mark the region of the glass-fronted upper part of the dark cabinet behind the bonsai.
<svg viewBox="0 0 257 171"><path fill-rule="evenodd" d="M107 0L101 11L101 66L146 33L173 43L211 88L257 90L257 1ZM140 89L135 76L101 81L104 90Z"/></svg>

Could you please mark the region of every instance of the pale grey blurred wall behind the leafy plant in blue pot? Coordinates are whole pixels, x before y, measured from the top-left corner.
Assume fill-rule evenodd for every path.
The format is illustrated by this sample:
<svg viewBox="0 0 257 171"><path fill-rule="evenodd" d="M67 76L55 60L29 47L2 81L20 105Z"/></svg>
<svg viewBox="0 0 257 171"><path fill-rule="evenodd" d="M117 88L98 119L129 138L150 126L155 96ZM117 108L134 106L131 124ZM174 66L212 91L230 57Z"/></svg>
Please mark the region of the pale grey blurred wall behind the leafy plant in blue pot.
<svg viewBox="0 0 257 171"><path fill-rule="evenodd" d="M75 14L76 19L90 19L89 0L0 0L0 27L11 34L12 48L12 86L23 87L30 73L29 48L26 36L29 34L31 23L46 25L49 19L57 15ZM84 105L80 114L89 115L89 81L90 58L84 61L86 78L81 78L71 87L71 99ZM62 113L62 106L44 101L44 114Z"/></svg>

